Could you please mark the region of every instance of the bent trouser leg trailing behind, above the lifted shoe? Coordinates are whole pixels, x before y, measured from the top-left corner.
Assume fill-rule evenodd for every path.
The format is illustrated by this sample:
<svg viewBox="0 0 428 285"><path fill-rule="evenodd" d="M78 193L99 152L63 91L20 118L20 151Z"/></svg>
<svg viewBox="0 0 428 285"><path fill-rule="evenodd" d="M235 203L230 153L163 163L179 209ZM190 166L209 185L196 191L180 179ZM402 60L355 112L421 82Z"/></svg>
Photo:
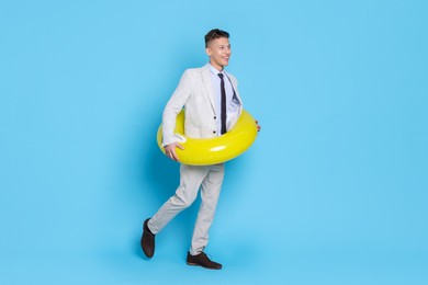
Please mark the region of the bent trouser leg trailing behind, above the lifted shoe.
<svg viewBox="0 0 428 285"><path fill-rule="evenodd" d="M180 166L180 185L176 194L148 221L148 228L154 235L158 233L177 214L192 205L209 170L209 167Z"/></svg>

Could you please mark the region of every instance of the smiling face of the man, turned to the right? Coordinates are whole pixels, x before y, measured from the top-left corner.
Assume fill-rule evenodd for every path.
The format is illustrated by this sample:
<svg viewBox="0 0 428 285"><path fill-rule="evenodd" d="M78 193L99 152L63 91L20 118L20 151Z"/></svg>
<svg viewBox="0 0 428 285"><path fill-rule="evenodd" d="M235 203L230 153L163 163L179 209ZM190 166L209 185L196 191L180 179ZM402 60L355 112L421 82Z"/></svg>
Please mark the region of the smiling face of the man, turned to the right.
<svg viewBox="0 0 428 285"><path fill-rule="evenodd" d="M205 49L210 57L210 64L222 71L229 64L232 55L229 39L227 37L215 38L210 42Z"/></svg>

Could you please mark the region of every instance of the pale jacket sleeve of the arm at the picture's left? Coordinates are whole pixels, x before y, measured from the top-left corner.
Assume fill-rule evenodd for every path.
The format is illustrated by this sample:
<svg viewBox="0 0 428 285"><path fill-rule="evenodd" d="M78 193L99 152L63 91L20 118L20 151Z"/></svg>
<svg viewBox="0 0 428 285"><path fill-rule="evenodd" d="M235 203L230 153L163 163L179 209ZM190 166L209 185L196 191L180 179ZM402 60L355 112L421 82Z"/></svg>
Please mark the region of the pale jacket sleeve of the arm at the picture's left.
<svg viewBox="0 0 428 285"><path fill-rule="evenodd" d="M162 147L168 146L179 139L173 134L178 113L182 110L191 94L190 71L185 70L180 79L176 91L172 93L162 114Z"/></svg>

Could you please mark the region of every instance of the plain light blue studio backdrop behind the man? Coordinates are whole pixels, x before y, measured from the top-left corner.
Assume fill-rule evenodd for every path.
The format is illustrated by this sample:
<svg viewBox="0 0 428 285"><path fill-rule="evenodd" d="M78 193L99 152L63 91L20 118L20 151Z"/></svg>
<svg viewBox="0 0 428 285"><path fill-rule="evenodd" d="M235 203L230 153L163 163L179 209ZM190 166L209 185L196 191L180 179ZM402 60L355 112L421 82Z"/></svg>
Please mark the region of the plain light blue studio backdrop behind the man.
<svg viewBox="0 0 428 285"><path fill-rule="evenodd" d="M1 1L1 284L427 284L427 1ZM155 135L203 36L261 125L227 163L206 251L198 203L139 249L178 164Z"/></svg>

